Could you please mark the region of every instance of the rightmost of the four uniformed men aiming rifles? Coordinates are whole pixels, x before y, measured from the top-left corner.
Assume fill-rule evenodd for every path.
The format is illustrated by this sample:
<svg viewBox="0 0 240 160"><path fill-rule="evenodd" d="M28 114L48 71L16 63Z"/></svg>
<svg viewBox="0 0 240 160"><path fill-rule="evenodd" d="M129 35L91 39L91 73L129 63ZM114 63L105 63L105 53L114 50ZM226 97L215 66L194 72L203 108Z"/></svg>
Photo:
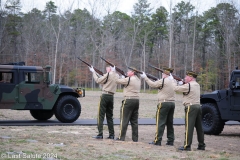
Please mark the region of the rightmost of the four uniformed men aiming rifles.
<svg viewBox="0 0 240 160"><path fill-rule="evenodd" d="M202 109L200 106L200 85L196 82L197 74L187 71L185 84L182 81L175 86L175 91L183 92L185 106L185 141L179 150L191 151L194 127L197 131L198 150L205 150L204 132L202 129Z"/></svg>

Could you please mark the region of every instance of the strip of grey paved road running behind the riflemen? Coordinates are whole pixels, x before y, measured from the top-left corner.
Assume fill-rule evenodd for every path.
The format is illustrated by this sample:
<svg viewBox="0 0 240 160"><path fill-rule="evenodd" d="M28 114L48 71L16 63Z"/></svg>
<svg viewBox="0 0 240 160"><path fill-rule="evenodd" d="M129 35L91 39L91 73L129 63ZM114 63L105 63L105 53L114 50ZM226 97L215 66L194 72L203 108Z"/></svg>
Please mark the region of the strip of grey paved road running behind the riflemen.
<svg viewBox="0 0 240 160"><path fill-rule="evenodd" d="M104 120L104 124L107 124ZM119 125L120 120L114 119L114 124ZM156 120L152 118L138 119L139 125L156 125ZM184 119L175 118L174 125L184 125ZM72 126L72 125L97 125L96 119L78 119L73 123L61 123L58 120L38 121L38 120L0 120L0 126ZM238 121L227 121L226 125L240 125Z"/></svg>

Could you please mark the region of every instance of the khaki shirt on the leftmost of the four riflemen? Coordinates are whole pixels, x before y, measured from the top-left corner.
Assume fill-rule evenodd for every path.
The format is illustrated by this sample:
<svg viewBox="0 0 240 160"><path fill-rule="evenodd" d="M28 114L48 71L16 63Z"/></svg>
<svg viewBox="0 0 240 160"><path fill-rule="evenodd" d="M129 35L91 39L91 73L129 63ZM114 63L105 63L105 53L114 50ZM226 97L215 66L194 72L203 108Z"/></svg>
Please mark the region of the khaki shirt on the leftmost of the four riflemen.
<svg viewBox="0 0 240 160"><path fill-rule="evenodd" d="M96 83L102 84L103 91L116 93L116 89L117 89L116 79L119 77L119 75L116 72L109 72L108 78L107 76L108 76L108 73L105 73L103 76L98 77L97 74L93 72L94 80L96 81Z"/></svg>

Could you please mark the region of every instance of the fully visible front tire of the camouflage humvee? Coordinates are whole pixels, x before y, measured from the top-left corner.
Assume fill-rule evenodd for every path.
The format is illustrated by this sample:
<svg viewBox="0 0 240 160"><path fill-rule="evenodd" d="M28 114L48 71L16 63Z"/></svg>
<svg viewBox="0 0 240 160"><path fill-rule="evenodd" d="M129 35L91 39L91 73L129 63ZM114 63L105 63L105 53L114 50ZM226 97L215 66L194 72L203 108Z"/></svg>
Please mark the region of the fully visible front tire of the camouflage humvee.
<svg viewBox="0 0 240 160"><path fill-rule="evenodd" d="M64 95L56 103L54 113L60 122L71 123L80 116L81 105L76 97Z"/></svg>

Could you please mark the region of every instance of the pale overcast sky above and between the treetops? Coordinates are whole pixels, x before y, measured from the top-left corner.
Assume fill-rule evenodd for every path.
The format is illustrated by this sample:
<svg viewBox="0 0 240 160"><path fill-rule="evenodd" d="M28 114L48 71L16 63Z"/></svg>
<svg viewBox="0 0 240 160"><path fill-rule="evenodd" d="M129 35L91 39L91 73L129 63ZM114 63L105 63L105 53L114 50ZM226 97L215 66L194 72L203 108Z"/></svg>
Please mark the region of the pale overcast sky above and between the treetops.
<svg viewBox="0 0 240 160"><path fill-rule="evenodd" d="M5 3L6 0L2 0L2 4ZM39 10L43 10L46 6L46 3L50 0L20 0L22 5L22 12L27 13L32 10L32 8L38 8ZM69 9L72 5L72 10L76 8L86 8L91 12L92 8L97 9L95 13L97 14L106 14L107 10L110 9L110 13L118 10L123 13L127 13L131 15L133 12L133 5L138 2L138 0L52 0L55 5L60 9L61 12ZM151 3L151 7L156 9L159 6L164 6L167 10L170 8L170 1L172 1L172 6L181 2L182 0L148 0L148 3ZM186 0L185 0L186 1ZM196 7L196 9L200 12L206 11L211 7L215 7L217 2L221 0L187 0L186 2L190 2L192 5ZM94 7L94 3L98 7ZM111 6L111 7L109 7Z"/></svg>

